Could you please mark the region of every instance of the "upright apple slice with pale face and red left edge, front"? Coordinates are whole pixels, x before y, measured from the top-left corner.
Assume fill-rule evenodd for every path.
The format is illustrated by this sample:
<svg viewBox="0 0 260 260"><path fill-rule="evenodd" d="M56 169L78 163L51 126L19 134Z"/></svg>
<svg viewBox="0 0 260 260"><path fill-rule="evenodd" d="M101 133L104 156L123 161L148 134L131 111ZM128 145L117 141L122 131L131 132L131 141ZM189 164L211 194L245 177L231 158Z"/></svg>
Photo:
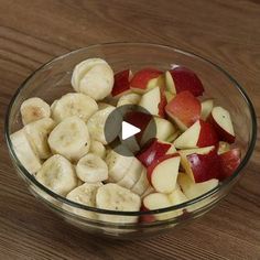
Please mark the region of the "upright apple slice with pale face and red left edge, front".
<svg viewBox="0 0 260 260"><path fill-rule="evenodd" d="M148 167L148 180L160 193L171 193L176 186L181 158L177 153L169 154L154 161Z"/></svg>

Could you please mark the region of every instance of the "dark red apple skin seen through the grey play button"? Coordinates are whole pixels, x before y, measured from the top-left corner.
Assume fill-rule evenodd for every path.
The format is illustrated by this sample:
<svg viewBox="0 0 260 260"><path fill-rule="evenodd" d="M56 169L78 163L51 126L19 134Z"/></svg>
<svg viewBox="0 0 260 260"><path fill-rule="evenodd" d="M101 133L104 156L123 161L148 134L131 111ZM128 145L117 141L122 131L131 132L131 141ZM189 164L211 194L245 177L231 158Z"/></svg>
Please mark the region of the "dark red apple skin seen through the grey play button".
<svg viewBox="0 0 260 260"><path fill-rule="evenodd" d="M137 140L140 142L142 139L142 134L148 127L149 122L152 120L152 115L140 112L140 111L132 111L128 112L124 116L124 121L133 124L134 127L139 128L141 131L136 134Z"/></svg>

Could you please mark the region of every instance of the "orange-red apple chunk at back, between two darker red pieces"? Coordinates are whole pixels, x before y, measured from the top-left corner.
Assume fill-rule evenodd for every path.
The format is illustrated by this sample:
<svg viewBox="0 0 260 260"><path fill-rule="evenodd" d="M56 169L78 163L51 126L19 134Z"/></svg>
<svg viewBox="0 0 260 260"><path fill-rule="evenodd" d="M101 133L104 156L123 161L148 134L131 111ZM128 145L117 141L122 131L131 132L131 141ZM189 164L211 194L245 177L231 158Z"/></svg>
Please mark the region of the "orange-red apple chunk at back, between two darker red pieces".
<svg viewBox="0 0 260 260"><path fill-rule="evenodd" d="M162 85L164 85L163 73L154 68L143 68L137 72L130 82L130 88L139 94Z"/></svg>

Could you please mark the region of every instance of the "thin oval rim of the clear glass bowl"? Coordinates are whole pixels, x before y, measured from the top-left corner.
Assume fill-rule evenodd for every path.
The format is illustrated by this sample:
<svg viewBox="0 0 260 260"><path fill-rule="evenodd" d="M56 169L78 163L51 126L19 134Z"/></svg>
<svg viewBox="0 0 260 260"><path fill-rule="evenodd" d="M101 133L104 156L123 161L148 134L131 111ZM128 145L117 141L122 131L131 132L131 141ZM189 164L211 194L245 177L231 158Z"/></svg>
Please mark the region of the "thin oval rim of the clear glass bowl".
<svg viewBox="0 0 260 260"><path fill-rule="evenodd" d="M9 122L10 122L10 113L12 110L13 105L15 104L15 99L19 96L20 91L26 86L26 83L39 72L41 72L41 69L44 69L46 66L51 65L52 63L55 63L56 61L59 59L64 59L66 57L69 57L71 54L75 54L82 51L87 51L87 50L91 50L91 48L97 48L97 47L106 47L106 46L111 46L111 47L117 47L117 46L132 46L132 47L156 47L156 48L164 48L164 50L169 50L178 54L183 54L196 59L199 59L201 62L204 62L215 68L217 68L220 73L224 74L224 76L226 76L236 87L237 90L240 93L240 95L243 97L243 100L246 101L249 111L250 111L250 117L251 117L251 133L250 133L250 143L249 143L249 148L243 156L243 160L241 161L241 163L239 164L238 169L234 172L234 174L226 178L223 183L220 183L217 187L213 188L212 191L196 197L193 199L189 199L188 202L178 204L178 205L174 205L171 207L165 207L165 208L160 208L160 209L153 209L153 210L139 210L139 212L118 212L118 210L108 210L108 209L101 209L101 208L96 208L96 207L89 207L83 204L78 204L72 201L68 201L66 197L63 197L56 193L53 193L51 189L46 188L44 185L42 185L41 183L39 183L36 181L36 178L30 174L26 169L21 164L21 162L19 161L19 159L15 155L15 152L12 148L12 143L11 143L11 139L10 139L10 129L9 129ZM202 202L204 199L206 199L209 196L213 196L215 194L217 194L220 189L225 188L226 186L228 186L229 184L232 183L232 181L235 181L241 173L242 169L246 166L246 164L248 163L254 145L256 145L256 140L257 140L257 118L256 118L256 112L254 112L254 108L253 105L251 102L251 100L249 99L247 93L245 91L245 89L238 84L238 82L224 68L221 68L220 66L218 66L217 64L213 63L212 61L197 55L195 53L192 52L187 52L181 48L176 48L173 46L169 46L169 45L162 45L162 44L155 44L155 43L145 43L145 42L110 42L110 43L100 43L100 44L93 44L89 45L87 47L82 47L72 52L68 52L64 55L61 55L58 57L52 58L51 61L48 61L47 63L43 64L42 66L40 66L36 71L34 71L21 85L20 87L17 89L17 91L14 93L13 97L11 98L11 101L8 106L8 110L6 113L6 120L4 120L4 137L6 137L6 141L8 144L8 149L10 152L10 155L12 158L12 160L15 162L15 165L18 166L19 171L23 174L23 176L29 180L31 183L33 183L37 188L40 188L42 192L46 193L47 195L50 195L51 197L53 197L54 199L57 199L61 203L64 203L71 207L75 207L78 209L84 209L84 210L88 210L88 212L96 212L96 213L100 213L100 214L107 214L107 215L118 215L118 216L142 216L142 215L150 215L150 214L160 214L160 213L167 213L167 212L172 212L172 210L177 210L177 209L185 209L187 206L191 205L195 205L198 202Z"/></svg>

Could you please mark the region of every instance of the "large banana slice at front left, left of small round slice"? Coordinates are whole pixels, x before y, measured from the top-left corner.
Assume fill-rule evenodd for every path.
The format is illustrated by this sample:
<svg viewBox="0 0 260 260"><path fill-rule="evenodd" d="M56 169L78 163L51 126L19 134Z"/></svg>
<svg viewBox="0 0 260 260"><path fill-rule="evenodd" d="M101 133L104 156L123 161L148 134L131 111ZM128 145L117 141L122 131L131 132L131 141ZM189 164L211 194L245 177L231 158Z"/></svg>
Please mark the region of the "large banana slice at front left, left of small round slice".
<svg viewBox="0 0 260 260"><path fill-rule="evenodd" d="M77 186L77 176L73 164L59 154L51 156L43 163L36 173L36 180L62 196Z"/></svg>

